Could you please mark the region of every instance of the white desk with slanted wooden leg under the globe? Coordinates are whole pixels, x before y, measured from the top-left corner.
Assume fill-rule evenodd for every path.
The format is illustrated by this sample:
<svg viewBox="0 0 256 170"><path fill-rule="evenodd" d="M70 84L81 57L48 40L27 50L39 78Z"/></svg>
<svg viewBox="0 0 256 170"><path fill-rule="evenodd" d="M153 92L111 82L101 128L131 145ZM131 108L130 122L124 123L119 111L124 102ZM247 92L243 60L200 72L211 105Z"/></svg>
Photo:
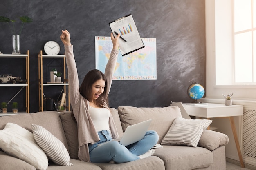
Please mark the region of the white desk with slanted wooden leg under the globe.
<svg viewBox="0 0 256 170"><path fill-rule="evenodd" d="M242 105L231 105L225 106L225 104L215 104L208 103L207 105L188 105L183 104L186 112L190 116L204 117L204 118L213 118L213 117L228 117L230 120L232 132L234 135L236 149L238 152L239 160L241 163L241 167L244 168L245 165L243 163L243 157L240 150L238 137L236 133L236 126L234 124L234 116L243 116L243 106Z"/></svg>

